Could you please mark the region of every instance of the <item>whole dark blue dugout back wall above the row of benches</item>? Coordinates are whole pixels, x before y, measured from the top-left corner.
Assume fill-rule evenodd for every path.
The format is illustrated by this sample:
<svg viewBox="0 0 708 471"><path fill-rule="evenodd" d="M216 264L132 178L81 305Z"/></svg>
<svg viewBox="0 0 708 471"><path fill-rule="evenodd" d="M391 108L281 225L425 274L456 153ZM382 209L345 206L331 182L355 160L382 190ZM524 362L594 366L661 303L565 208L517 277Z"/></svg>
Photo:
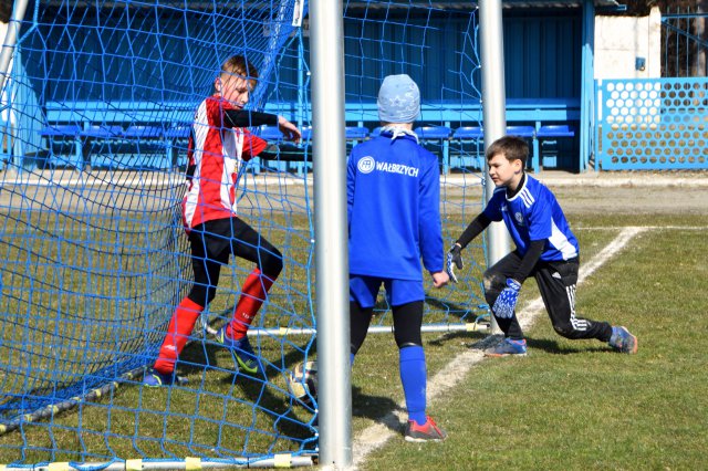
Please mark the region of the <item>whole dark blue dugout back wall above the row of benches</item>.
<svg viewBox="0 0 708 471"><path fill-rule="evenodd" d="M403 72L418 82L426 102L479 97L476 14L436 11L396 17L400 11L405 12L378 13L386 14L386 28L376 12L367 13L365 20L345 20L347 102L375 100L381 78ZM45 17L52 14L101 28L80 31L45 20L24 44L27 69L42 102L187 100L209 92L215 63L227 54L210 46L217 38L214 24L200 17L204 13L175 10L160 18L142 18L121 11L112 12L108 21L87 20L95 17L92 10L48 11ZM125 28L133 30L127 36L122 32ZM233 50L241 48L233 42ZM504 54L509 98L579 97L581 11L504 10ZM126 56L133 57L129 63ZM43 81L45 76L59 82ZM295 43L282 59L275 81L279 91L273 98L298 100ZM126 83L131 86L122 86Z"/></svg>

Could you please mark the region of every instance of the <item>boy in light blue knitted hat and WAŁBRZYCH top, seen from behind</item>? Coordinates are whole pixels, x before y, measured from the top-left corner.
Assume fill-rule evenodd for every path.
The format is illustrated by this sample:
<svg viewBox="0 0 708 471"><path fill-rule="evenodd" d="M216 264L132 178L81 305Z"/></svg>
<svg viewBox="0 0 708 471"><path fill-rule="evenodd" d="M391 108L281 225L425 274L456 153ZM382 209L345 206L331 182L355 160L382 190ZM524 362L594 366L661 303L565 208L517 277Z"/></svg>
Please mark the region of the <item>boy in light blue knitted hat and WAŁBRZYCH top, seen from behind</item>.
<svg viewBox="0 0 708 471"><path fill-rule="evenodd" d="M387 76L378 92L381 135L355 146L348 158L351 360L354 364L366 338L383 284L408 409L405 439L440 441L446 433L426 416L423 266L435 287L449 278L444 270L438 159L413 132L419 114L415 82L405 74Z"/></svg>

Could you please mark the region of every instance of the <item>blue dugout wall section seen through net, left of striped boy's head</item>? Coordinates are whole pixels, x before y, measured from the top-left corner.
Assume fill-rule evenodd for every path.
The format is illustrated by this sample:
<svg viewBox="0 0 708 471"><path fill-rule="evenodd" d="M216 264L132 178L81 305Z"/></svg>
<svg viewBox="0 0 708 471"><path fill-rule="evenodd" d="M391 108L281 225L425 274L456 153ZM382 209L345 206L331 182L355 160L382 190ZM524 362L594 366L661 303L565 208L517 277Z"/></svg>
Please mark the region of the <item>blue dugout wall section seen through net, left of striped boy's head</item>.
<svg viewBox="0 0 708 471"><path fill-rule="evenodd" d="M21 44L25 67L42 102L194 101L228 56L246 53L261 69L273 42L264 10L214 9L42 4Z"/></svg>

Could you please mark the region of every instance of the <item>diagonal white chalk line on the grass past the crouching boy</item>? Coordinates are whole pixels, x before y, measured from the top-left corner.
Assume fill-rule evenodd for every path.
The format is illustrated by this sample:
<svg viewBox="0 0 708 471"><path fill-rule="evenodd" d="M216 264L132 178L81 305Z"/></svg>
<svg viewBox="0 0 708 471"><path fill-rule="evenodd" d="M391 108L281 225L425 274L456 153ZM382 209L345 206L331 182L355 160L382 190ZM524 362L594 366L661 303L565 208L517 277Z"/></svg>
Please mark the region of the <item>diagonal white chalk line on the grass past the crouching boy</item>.
<svg viewBox="0 0 708 471"><path fill-rule="evenodd" d="M592 258L587 263L581 265L577 283L585 281L587 276L593 274L595 270L601 268L612 257L620 252L635 236L647 230L647 228L628 227L623 228L622 232L607 244L600 253ZM529 302L518 314L519 322L523 328L528 328L540 313L544 311L541 296ZM437 375L428 380L427 399L428 404L435 398L447 393L457 386L471 369L483 358L483 348L493 345L497 337L488 336L477 343L476 348L470 348L452 358ZM377 423L366 428L357 437L354 438L352 446L354 468L360 467L366 461L369 453L386 444L388 439L394 437L393 430L402 430L406 420L406 405L398 404L396 410L387 414Z"/></svg>

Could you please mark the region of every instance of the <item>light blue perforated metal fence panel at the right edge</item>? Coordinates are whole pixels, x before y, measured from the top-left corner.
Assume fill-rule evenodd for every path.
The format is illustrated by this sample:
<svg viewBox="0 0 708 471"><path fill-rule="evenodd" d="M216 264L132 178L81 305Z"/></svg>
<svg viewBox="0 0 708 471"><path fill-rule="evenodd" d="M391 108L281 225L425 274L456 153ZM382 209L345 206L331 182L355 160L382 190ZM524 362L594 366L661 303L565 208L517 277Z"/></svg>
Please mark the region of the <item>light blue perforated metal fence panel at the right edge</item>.
<svg viewBox="0 0 708 471"><path fill-rule="evenodd" d="M596 82L602 170L708 169L708 78Z"/></svg>

